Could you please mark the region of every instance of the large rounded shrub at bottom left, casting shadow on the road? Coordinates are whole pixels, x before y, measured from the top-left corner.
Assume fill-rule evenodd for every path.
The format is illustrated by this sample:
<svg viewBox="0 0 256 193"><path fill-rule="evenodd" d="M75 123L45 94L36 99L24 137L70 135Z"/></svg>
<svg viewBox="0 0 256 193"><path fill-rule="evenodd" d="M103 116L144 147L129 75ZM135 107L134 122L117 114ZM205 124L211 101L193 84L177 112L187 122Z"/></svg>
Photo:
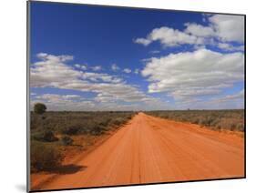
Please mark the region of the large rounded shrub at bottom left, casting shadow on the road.
<svg viewBox="0 0 256 193"><path fill-rule="evenodd" d="M53 170L61 165L64 158L56 147L39 142L31 143L30 157L32 171Z"/></svg>

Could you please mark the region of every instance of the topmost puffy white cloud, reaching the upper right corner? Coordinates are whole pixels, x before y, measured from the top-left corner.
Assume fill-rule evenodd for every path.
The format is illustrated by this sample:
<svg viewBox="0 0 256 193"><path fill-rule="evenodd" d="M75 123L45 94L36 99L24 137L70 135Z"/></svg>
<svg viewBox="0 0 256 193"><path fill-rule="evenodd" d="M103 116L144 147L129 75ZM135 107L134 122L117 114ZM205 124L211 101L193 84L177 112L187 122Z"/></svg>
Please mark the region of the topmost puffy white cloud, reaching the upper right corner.
<svg viewBox="0 0 256 193"><path fill-rule="evenodd" d="M208 25L186 23L183 31L170 26L153 29L135 43L148 46L159 41L162 46L207 45L212 42L244 42L244 19L241 15L203 15Z"/></svg>

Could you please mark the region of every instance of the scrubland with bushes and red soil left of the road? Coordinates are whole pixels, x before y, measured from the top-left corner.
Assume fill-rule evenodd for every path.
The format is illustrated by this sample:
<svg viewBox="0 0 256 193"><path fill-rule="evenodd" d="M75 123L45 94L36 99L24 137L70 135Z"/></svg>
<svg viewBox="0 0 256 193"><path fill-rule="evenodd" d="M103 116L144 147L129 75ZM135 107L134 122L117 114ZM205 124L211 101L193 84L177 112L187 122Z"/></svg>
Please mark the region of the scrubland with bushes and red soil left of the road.
<svg viewBox="0 0 256 193"><path fill-rule="evenodd" d="M60 167L67 147L85 149L133 116L133 112L31 112L31 171ZM77 144L74 139L81 136L86 141Z"/></svg>

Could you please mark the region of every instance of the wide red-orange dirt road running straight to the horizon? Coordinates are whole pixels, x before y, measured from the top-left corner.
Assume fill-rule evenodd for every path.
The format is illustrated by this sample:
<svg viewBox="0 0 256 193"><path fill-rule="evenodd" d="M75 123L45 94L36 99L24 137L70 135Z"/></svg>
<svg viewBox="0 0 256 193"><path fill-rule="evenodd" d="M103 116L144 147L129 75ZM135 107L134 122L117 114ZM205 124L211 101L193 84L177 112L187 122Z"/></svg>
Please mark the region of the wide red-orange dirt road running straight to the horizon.
<svg viewBox="0 0 256 193"><path fill-rule="evenodd" d="M76 165L40 189L243 177L243 137L139 113Z"/></svg>

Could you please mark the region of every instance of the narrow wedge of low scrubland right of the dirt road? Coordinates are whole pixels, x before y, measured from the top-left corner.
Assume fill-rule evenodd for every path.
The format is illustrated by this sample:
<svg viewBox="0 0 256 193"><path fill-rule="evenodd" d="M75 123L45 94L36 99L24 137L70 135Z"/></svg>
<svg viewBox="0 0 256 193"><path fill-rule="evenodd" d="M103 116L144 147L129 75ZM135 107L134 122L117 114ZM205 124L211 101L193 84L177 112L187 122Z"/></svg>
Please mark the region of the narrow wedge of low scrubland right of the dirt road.
<svg viewBox="0 0 256 193"><path fill-rule="evenodd" d="M149 111L150 116L198 124L212 129L244 131L244 110Z"/></svg>

